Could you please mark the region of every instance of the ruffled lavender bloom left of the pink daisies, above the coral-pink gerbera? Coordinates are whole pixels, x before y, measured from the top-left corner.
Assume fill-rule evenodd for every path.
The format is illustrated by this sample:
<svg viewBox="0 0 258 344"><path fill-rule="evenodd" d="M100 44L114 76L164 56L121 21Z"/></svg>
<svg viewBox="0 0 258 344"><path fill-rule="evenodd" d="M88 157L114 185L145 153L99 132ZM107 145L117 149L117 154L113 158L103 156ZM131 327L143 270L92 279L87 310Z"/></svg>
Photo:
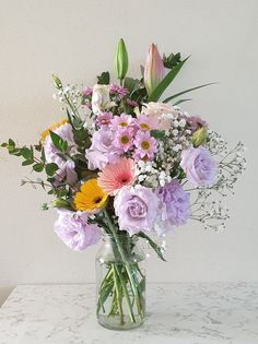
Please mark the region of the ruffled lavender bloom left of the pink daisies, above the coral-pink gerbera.
<svg viewBox="0 0 258 344"><path fill-rule="evenodd" d="M86 150L89 169L103 169L108 163L116 163L122 150L114 145L115 133L108 128L101 128L92 138L92 145Z"/></svg>

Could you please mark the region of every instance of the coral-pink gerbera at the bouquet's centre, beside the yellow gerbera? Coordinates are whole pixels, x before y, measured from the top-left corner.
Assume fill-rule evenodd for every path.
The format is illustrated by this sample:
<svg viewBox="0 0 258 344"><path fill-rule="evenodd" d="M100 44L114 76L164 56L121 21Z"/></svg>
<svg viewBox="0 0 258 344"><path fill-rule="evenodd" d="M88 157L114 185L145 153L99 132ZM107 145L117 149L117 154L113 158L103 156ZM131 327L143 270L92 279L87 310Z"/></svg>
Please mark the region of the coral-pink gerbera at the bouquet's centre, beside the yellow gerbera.
<svg viewBox="0 0 258 344"><path fill-rule="evenodd" d="M131 158L120 158L115 164L107 164L98 173L98 186L108 194L116 194L125 186L132 186L134 163Z"/></svg>

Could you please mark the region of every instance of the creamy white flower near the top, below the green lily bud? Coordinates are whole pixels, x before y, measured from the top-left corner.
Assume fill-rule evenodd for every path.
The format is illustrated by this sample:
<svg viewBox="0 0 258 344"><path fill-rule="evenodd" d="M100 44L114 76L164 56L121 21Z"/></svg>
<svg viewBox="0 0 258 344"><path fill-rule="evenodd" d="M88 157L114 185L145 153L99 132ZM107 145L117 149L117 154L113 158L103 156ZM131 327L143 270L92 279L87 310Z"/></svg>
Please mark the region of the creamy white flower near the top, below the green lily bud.
<svg viewBox="0 0 258 344"><path fill-rule="evenodd" d="M107 110L116 106L116 103L110 102L109 85L98 85L93 87L92 92L92 110L96 115L102 110Z"/></svg>

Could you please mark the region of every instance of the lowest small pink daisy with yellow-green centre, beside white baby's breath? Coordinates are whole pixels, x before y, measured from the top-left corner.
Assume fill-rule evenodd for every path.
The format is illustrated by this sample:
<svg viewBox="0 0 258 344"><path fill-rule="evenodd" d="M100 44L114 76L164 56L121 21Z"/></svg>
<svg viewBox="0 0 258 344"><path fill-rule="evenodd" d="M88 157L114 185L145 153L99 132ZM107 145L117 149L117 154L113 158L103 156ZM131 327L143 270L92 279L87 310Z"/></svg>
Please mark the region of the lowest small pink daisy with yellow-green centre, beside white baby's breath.
<svg viewBox="0 0 258 344"><path fill-rule="evenodd" d="M152 161L154 158L154 153L156 152L156 140L151 137L149 131L138 131L136 140L136 152L134 158Z"/></svg>

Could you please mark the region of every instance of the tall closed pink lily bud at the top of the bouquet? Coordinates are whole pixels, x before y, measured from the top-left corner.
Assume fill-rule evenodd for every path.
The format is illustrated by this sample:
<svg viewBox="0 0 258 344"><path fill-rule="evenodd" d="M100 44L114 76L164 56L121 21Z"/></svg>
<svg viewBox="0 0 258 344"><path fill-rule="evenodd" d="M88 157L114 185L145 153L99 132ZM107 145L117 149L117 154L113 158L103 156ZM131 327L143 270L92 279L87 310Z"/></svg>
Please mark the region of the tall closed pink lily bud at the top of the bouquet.
<svg viewBox="0 0 258 344"><path fill-rule="evenodd" d="M146 56L144 68L144 85L148 95L150 95L165 76L165 68L157 50L157 47L152 44Z"/></svg>

